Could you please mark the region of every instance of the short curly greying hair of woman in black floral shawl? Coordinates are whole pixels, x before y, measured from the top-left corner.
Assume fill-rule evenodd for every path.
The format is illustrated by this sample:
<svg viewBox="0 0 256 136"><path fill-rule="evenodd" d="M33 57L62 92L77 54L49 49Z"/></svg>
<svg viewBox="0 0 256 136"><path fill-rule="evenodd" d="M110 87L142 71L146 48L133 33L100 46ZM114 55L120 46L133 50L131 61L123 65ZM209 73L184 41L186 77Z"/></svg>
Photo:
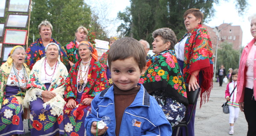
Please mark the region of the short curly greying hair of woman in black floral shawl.
<svg viewBox="0 0 256 136"><path fill-rule="evenodd" d="M155 38L157 36L162 37L162 40L164 43L171 42L169 49L173 49L174 45L177 42L175 32L172 31L171 28L159 28L159 29L153 31L152 37Z"/></svg>

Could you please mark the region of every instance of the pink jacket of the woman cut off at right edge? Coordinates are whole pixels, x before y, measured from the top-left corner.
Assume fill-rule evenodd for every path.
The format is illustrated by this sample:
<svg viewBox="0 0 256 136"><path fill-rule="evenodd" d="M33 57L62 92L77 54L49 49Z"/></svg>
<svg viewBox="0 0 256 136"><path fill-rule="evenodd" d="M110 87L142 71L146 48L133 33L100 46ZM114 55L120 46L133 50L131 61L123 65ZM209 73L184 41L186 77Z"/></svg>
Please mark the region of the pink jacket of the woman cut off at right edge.
<svg viewBox="0 0 256 136"><path fill-rule="evenodd" d="M245 89L245 82L246 82L246 60L248 57L248 54L250 52L250 49L253 46L253 43L256 41L255 38L253 38L252 41L248 43L247 46L244 47L244 50L241 54L241 60L239 64L239 70L238 70L238 79L237 79L237 96L236 96L236 102L244 102L244 89ZM254 56L254 64L253 65L253 96L256 96L256 54Z"/></svg>

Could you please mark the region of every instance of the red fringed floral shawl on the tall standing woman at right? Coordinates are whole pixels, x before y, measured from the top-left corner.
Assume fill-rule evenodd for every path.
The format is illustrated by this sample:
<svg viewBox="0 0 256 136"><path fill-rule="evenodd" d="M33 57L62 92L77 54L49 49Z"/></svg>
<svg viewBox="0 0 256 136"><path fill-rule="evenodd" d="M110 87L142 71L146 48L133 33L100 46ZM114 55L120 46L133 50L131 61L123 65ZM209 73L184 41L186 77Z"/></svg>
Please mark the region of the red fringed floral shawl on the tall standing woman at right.
<svg viewBox="0 0 256 136"><path fill-rule="evenodd" d="M181 39L186 37L185 34ZM179 41L179 42L180 42ZM190 76L194 71L201 71L203 79L201 83L201 102L209 99L212 89L213 78L213 59L212 42L206 28L198 25L189 34L184 49L183 77L185 82L189 82ZM204 97L204 99L202 99Z"/></svg>

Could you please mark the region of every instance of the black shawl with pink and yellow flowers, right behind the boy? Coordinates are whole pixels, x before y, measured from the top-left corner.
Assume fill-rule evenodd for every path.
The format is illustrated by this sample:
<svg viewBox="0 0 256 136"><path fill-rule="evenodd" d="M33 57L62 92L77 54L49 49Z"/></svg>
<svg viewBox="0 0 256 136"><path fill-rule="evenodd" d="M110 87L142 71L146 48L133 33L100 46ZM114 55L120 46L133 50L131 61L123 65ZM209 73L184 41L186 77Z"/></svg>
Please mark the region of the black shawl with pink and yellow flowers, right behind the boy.
<svg viewBox="0 0 256 136"><path fill-rule="evenodd" d="M150 94L165 94L163 98L169 97L188 105L185 83L173 50L165 50L152 56L147 60L146 67L139 83Z"/></svg>

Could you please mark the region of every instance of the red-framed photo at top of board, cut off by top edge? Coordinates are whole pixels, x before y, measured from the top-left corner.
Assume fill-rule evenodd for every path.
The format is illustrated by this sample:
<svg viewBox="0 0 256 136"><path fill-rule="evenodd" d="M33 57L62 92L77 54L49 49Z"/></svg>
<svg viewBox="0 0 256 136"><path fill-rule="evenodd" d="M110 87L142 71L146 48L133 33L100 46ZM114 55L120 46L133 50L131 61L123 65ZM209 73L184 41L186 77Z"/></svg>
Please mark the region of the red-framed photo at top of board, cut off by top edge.
<svg viewBox="0 0 256 136"><path fill-rule="evenodd" d="M9 0L8 11L29 12L30 0Z"/></svg>

